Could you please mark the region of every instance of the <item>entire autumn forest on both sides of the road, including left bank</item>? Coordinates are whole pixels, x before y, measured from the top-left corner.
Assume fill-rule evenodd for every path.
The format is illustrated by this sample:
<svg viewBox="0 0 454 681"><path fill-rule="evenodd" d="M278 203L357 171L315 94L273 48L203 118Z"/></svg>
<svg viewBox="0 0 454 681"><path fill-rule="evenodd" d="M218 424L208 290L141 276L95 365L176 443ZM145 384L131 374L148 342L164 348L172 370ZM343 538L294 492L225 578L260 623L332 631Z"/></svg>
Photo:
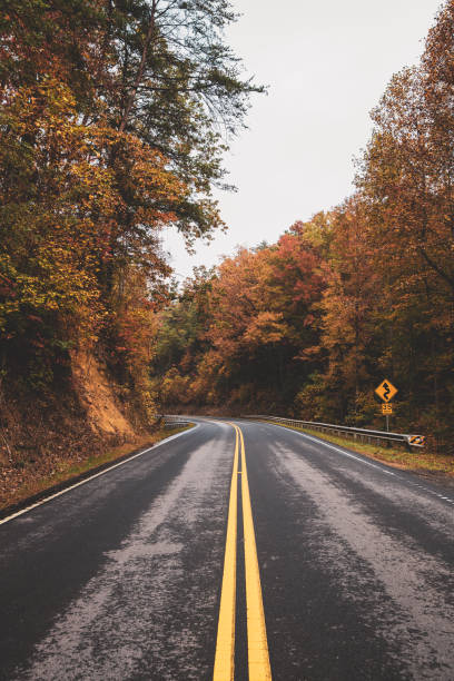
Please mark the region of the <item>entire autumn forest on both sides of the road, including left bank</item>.
<svg viewBox="0 0 454 681"><path fill-rule="evenodd" d="M180 287L162 229L194 247L225 228L213 189L231 189L223 155L265 89L225 42L228 0L2 7L8 480L169 411L383 427L383 378L394 430L450 442L454 1L373 110L355 193Z"/></svg>

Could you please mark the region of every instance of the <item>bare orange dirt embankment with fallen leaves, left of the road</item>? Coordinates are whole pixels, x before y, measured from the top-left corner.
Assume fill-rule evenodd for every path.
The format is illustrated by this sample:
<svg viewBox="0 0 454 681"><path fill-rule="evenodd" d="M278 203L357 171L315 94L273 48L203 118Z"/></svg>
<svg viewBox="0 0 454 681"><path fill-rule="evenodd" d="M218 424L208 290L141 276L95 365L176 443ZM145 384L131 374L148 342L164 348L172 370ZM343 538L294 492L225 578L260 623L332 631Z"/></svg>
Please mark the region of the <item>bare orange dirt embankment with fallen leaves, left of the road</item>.
<svg viewBox="0 0 454 681"><path fill-rule="evenodd" d="M0 385L0 507L16 503L33 481L62 472L108 448L144 442L134 428L103 363L90 353L71 354L65 385L50 394L27 394Z"/></svg>

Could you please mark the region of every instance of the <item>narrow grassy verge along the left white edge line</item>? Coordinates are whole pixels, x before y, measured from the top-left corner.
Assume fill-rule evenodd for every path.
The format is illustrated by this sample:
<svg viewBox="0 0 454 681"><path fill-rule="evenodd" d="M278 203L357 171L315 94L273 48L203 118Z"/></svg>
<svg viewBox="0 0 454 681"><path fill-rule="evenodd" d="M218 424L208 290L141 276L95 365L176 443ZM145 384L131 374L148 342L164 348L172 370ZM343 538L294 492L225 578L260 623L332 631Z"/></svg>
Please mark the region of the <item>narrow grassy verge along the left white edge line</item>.
<svg viewBox="0 0 454 681"><path fill-rule="evenodd" d="M154 444L170 437L170 435L189 431L193 427L193 425L187 425L179 428L160 428L156 431L156 433L137 437L134 443L125 443L83 460L75 461L71 458L60 458L56 462L55 470L51 474L32 477L26 476L26 481L22 485L14 488L11 494L2 497L0 502L0 512L10 506L21 505L27 500L37 495L43 497L47 491L51 493L56 486L61 486L61 488L63 488L63 486L66 486L65 483L68 483L69 486L72 481L76 482L78 478L89 477L91 471L95 473L102 466L108 467L107 464L109 463L114 464L121 458L126 458L129 454L138 453L146 447L151 447Z"/></svg>

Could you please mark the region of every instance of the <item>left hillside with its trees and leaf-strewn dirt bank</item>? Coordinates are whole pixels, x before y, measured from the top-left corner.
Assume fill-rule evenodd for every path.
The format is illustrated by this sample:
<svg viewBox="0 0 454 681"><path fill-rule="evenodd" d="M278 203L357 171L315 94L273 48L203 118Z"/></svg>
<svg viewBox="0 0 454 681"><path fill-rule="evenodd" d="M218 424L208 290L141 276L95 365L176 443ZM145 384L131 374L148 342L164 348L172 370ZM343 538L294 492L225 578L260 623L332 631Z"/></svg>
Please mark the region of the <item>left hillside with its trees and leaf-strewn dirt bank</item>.
<svg viewBox="0 0 454 681"><path fill-rule="evenodd" d="M225 0L2 3L3 490L156 422L160 234L223 226L225 140L261 90L224 42L235 19Z"/></svg>

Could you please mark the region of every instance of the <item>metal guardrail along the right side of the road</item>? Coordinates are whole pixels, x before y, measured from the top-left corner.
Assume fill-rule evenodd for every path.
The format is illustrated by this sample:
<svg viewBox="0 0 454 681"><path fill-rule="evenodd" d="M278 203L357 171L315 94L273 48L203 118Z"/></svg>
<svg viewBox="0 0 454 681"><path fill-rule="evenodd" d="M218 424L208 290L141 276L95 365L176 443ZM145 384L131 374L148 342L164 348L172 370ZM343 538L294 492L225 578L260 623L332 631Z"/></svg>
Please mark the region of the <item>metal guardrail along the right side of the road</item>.
<svg viewBox="0 0 454 681"><path fill-rule="evenodd" d="M365 428L352 428L349 426L335 425L332 423L319 423L314 421L297 421L295 418L283 418L280 416L253 415L244 416L244 418L255 418L258 421L272 421L277 424L289 425L294 427L306 426L320 433L335 433L338 435L352 435L353 440L361 442L383 441L383 442L399 442L407 447L424 447L424 435L406 435L402 433L388 433L386 431L368 431ZM379 444L379 443L378 443Z"/></svg>

